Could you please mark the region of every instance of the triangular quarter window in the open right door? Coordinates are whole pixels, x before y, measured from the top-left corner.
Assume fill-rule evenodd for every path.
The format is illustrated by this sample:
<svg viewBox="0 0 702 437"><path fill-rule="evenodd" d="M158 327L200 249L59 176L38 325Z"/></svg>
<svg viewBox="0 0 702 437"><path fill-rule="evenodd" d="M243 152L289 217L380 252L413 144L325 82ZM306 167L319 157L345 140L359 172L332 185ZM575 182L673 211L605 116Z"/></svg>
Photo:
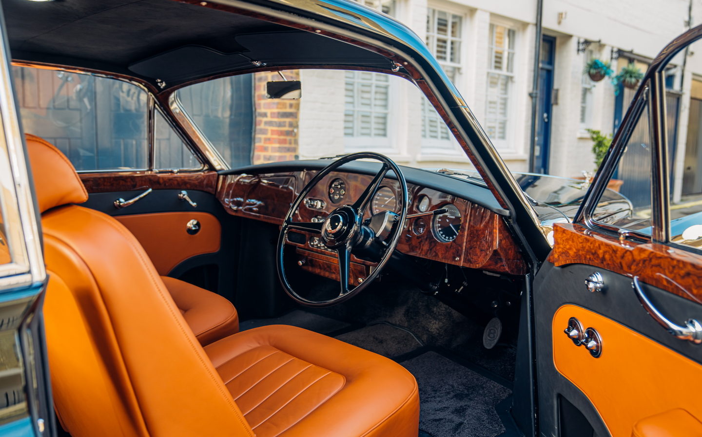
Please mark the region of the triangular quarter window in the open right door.
<svg viewBox="0 0 702 437"><path fill-rule="evenodd" d="M651 235L651 123L645 105L592 218Z"/></svg>

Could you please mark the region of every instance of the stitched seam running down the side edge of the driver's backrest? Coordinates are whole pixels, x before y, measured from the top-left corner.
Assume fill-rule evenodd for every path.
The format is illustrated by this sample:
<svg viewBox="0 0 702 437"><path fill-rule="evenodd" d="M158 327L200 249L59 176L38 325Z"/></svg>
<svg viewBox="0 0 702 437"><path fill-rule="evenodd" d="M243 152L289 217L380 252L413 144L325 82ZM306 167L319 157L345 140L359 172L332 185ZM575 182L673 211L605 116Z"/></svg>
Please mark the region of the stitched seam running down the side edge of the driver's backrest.
<svg viewBox="0 0 702 437"><path fill-rule="evenodd" d="M85 187L84 187L84 189L85 189ZM183 323L181 323L181 321L185 321L185 319L183 319L183 316L180 316L180 318L178 318L176 316L176 313L173 312L173 307L175 307L175 304L173 304L173 305L170 304L173 302L173 298L170 296L170 293L168 293L168 299L170 299L170 302L168 299L166 299L166 296L164 295L164 292L162 290L163 288L166 288L166 285L164 284L163 281L161 281L161 284L159 284L158 281L156 281L156 278L154 278L154 274L152 271L153 264L151 263L151 260L144 259L144 257L142 256L142 253L141 253L141 252L143 252L144 249L141 248L141 252L140 252L140 250L139 250L140 247L135 245L134 242L132 241L132 239L135 239L135 237L129 231L127 231L126 228L120 227L121 225L117 226L117 224L113 223L111 220L105 220L105 217L110 217L109 215L105 215L104 213L98 213L98 211L91 210L89 208L83 208L81 206L76 206L75 208L81 208L82 210L85 210L88 214L94 215L95 217L100 217L100 220L105 222L105 224L108 224L110 227L112 227L112 229L116 230L117 232L119 232L119 234L124 236L124 240L126 241L126 243L129 246L131 246L135 255L137 255L139 257L141 263L147 267L145 269L146 270L145 273L151 279L152 285L154 285L154 288L156 288L157 292L159 293L159 297L161 297L161 300L166 305L168 312L171 313L171 317L173 318L173 321L176 322L176 324L178 325L178 328L180 328L180 331L183 332L183 335L185 336L185 339L187 340L187 344L190 345L190 349L192 349L195 356L197 356L198 360L200 361L200 363L203 367L203 370L205 370L205 372L207 372L207 375L210 377L211 381L215 384L216 389L220 392L220 396L222 396L223 400L227 403L227 405L230 406L230 408L234 412L234 416L237 417L241 426L246 431L249 431L249 426L248 426L249 424L246 423L246 420L244 419L243 415L237 414L237 412L238 412L237 411L237 404L234 403L234 400L232 399L231 394L229 394L228 391L225 391L226 386L224 386L224 384L219 384L219 382L222 382L222 378L221 377L217 378L217 377L215 377L215 375L213 375L211 370L208 368L206 361L204 361L202 354L197 349L197 347L195 347L195 344L190 339L190 335L188 333L188 330L190 330L190 328L188 328L188 330L186 330L185 327L183 326ZM115 222L117 222L117 220L115 220ZM152 265L152 269L148 268L148 266L150 264ZM159 277L159 281L160 280L161 280L161 278ZM159 286L159 285L161 285L161 286ZM190 331L190 333L192 333L192 330ZM194 335L193 335L193 337L194 337ZM198 344L198 346L199 346L199 344ZM201 347L200 347L200 349L201 349ZM218 381L218 379L219 379L219 381ZM227 396L227 394L229 394L229 396ZM253 430L251 432L249 432L249 435L251 437L256 436L256 434L253 433Z"/></svg>

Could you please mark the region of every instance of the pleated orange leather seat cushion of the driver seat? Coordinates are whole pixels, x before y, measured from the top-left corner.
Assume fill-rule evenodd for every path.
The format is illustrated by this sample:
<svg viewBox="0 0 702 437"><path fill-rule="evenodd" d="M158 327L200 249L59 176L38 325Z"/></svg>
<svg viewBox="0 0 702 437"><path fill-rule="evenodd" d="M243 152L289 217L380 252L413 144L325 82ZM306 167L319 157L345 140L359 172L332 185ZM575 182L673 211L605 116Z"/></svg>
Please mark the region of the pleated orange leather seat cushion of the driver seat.
<svg viewBox="0 0 702 437"><path fill-rule="evenodd" d="M205 351L257 437L418 434L416 380L373 352L286 325L239 332Z"/></svg>

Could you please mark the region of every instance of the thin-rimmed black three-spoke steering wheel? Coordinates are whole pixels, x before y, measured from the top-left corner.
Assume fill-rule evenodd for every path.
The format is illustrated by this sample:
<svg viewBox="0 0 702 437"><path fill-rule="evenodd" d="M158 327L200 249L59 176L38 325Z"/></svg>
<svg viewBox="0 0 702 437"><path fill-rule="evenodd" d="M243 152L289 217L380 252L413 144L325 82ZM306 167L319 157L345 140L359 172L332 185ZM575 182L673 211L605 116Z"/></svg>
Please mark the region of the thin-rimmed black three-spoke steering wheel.
<svg viewBox="0 0 702 437"><path fill-rule="evenodd" d="M359 159L374 159L383 164L359 199L350 205L339 206L326 217L324 222L293 222L293 215L298 211L300 203L306 199L307 194L309 194L326 175L329 175L329 173L343 166L345 163L357 161ZM388 170L392 170L392 172L395 173L397 182L399 182L400 191L402 191L402 195L400 199L398 199L400 206L399 214L392 211L383 211L383 213L375 214L364 222L364 212L371 203L376 191L378 191L380 183L383 182L383 178L388 173ZM314 175L312 180L305 185L305 188L300 191L297 199L292 203L290 210L285 216L278 238L276 255L278 276L285 293L296 302L307 307L328 307L329 305L344 302L364 290L364 288L378 277L380 271L383 270L385 264L390 260L392 252L397 247L399 236L406 222L408 199L407 183L404 180L404 175L402 175L402 170L399 169L392 159L385 155L373 152L347 154L320 170L319 173ZM293 287L286 277L283 260L286 237L288 232L292 229L319 235L319 239L324 243L324 246L336 252L339 264L340 292L338 296L327 300L310 300L300 296L293 290ZM371 274L369 274L362 283L349 288L349 268L352 253L365 260L377 262L377 266L375 269L371 269Z"/></svg>

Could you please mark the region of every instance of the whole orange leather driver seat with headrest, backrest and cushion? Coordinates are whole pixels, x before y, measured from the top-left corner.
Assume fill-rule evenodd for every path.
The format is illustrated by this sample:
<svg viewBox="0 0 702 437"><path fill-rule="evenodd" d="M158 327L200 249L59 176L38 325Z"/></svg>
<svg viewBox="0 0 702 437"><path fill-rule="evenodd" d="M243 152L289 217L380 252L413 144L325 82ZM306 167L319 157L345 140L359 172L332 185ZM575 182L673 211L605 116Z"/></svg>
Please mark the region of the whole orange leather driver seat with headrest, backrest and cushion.
<svg viewBox="0 0 702 437"><path fill-rule="evenodd" d="M416 381L387 358L284 325L202 347L136 238L74 205L65 156L28 147L55 410L73 437L418 435Z"/></svg>

